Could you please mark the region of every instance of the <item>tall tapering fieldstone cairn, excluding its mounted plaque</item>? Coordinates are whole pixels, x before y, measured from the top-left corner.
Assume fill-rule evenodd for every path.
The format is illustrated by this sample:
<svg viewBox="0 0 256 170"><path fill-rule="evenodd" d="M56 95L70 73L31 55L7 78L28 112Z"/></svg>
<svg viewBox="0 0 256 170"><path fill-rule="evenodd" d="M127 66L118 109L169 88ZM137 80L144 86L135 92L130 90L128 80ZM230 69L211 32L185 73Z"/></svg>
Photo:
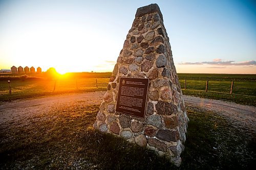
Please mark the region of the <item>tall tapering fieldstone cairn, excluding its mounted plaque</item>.
<svg viewBox="0 0 256 170"><path fill-rule="evenodd" d="M120 77L150 80L144 118L115 111ZM94 128L154 150L179 166L187 123L161 11L157 4L138 8L103 96Z"/></svg>

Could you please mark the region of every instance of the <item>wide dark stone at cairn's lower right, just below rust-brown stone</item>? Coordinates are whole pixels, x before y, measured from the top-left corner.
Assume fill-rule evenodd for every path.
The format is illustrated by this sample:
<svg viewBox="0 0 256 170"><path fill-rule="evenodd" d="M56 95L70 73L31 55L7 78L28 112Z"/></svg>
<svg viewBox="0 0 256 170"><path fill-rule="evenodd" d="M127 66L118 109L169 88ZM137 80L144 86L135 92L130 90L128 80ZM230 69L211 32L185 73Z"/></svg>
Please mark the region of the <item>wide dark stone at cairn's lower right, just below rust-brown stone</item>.
<svg viewBox="0 0 256 170"><path fill-rule="evenodd" d="M167 142L177 141L179 139L179 135L176 131L170 131L170 130L164 130L164 129L160 129L157 132L156 137Z"/></svg>

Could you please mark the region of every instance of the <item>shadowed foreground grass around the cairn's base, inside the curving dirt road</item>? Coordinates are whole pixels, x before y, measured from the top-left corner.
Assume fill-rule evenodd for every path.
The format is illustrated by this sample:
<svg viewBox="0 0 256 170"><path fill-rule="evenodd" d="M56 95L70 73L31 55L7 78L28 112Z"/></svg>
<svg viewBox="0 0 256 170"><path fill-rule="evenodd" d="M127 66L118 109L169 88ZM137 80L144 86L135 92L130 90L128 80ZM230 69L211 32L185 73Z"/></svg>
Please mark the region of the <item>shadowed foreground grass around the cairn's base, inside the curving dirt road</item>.
<svg viewBox="0 0 256 170"><path fill-rule="evenodd" d="M215 112L187 107L177 168L154 152L95 131L99 106L77 102L0 125L0 169L252 169L255 135Z"/></svg>

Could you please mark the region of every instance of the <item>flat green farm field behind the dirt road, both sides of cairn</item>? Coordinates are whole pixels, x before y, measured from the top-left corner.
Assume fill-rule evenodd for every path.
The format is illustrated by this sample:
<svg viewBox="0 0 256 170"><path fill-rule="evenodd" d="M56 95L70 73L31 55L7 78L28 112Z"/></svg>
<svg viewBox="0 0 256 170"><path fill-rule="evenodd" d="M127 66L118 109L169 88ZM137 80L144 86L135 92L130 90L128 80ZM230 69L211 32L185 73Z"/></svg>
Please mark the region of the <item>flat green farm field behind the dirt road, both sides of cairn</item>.
<svg viewBox="0 0 256 170"><path fill-rule="evenodd" d="M69 73L59 76L56 80L47 77L45 74L29 75L24 81L20 80L20 76L23 75L0 75L0 101L60 93L104 91L108 85L111 72ZM178 74L178 76L182 93L185 95L256 106L256 75ZM9 79L11 80L11 95L7 83ZM207 92L205 92L206 80L208 80ZM232 81L233 89L232 94L230 94Z"/></svg>

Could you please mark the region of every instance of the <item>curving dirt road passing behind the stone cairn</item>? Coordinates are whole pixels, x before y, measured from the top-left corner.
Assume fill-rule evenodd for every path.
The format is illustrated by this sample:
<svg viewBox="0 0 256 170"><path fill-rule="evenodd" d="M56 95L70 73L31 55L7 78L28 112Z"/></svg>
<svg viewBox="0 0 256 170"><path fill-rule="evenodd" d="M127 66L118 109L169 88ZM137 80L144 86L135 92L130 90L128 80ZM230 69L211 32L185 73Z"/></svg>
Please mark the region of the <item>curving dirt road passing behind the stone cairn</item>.
<svg viewBox="0 0 256 170"><path fill-rule="evenodd" d="M84 102L88 105L100 104L104 91L62 94L44 98L16 100L0 104L0 124L8 120L26 118L33 114L46 112L51 107L64 103ZM232 102L202 99L194 96L183 96L186 106L215 111L239 127L256 132L256 107L239 105Z"/></svg>

